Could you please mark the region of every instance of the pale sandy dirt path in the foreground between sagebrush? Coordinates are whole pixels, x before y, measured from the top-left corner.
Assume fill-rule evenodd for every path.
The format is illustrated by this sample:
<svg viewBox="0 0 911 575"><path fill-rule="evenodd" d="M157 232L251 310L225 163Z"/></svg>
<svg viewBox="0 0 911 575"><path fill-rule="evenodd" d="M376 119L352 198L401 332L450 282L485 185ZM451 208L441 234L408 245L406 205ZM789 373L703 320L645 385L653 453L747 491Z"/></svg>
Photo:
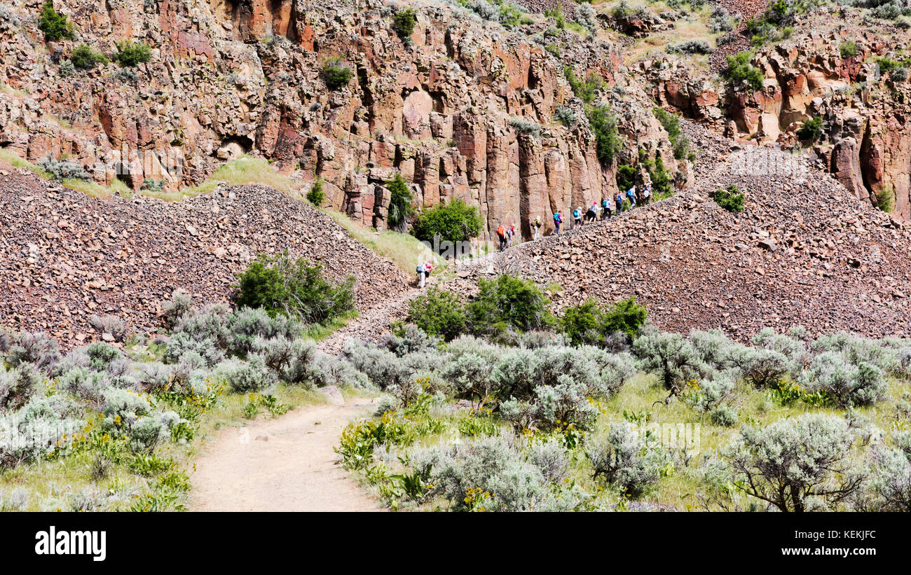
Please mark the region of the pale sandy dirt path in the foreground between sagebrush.
<svg viewBox="0 0 911 575"><path fill-rule="evenodd" d="M377 502L334 463L342 430L370 413L368 399L303 407L278 419L222 429L191 478L194 511L376 511Z"/></svg>

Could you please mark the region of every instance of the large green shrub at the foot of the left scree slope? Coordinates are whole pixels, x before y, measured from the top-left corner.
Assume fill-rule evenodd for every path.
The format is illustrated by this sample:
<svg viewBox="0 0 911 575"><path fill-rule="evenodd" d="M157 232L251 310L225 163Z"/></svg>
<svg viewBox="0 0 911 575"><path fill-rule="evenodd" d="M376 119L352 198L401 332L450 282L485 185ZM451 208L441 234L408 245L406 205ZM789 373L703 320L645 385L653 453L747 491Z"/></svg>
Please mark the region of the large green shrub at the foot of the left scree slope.
<svg viewBox="0 0 911 575"><path fill-rule="evenodd" d="M271 317L284 314L306 323L323 323L354 309L354 277L332 284L322 266L311 266L288 253L260 255L238 277L234 303L238 308L262 308Z"/></svg>

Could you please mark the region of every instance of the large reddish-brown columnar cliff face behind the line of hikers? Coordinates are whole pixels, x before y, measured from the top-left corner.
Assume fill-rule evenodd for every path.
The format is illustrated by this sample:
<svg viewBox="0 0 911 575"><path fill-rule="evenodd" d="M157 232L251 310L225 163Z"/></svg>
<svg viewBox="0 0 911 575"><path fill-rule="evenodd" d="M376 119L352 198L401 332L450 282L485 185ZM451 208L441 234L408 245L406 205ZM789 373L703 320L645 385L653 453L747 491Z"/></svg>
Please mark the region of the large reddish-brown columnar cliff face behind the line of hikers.
<svg viewBox="0 0 911 575"><path fill-rule="evenodd" d="M380 0L356 10L304 0L56 6L79 40L53 43L49 54L34 47L42 43L35 30L0 23L0 79L12 88L0 93L0 145L32 161L67 155L103 184L121 177L139 190L150 178L176 189L246 153L271 159L304 189L322 178L328 206L381 229L384 182L395 173L413 183L418 207L455 197L475 205L488 234L528 216L549 224L548 213L616 188L565 64L578 77L597 72L623 85L623 96L601 96L620 110L620 130L635 136L624 161L636 161L636 146L670 149L660 125L643 119L652 106L644 90L617 77L617 46L567 31L557 57L531 34L445 5L419 7L405 40ZM36 10L35 0L22 14ZM537 26L543 33L547 24ZM61 76L58 62L78 43L112 54L126 38L153 48L135 79L114 64ZM353 77L329 92L321 71L332 57ZM555 122L558 107L580 120ZM519 134L514 117L541 125L539 135ZM661 153L672 173L682 170Z"/></svg>

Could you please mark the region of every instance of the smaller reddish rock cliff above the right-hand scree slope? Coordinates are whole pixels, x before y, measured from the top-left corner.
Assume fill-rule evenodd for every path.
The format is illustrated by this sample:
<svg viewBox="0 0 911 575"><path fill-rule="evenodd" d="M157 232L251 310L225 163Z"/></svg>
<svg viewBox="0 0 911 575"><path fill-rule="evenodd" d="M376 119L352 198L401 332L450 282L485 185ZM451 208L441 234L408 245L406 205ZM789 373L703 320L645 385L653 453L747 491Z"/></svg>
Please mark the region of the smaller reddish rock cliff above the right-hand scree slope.
<svg viewBox="0 0 911 575"><path fill-rule="evenodd" d="M677 61L642 67L662 104L706 120L734 138L790 148L812 144L818 166L832 172L855 197L873 205L892 198L893 215L907 220L911 87L902 76L882 73L877 64L883 57L901 60L897 54L906 35L886 34L877 25L862 24L854 14L845 18L844 24L833 25L828 15L805 16L792 41L758 51L752 65L765 80L755 92L716 85ZM857 54L841 54L845 40L856 43ZM719 106L726 117L718 114ZM802 142L798 131L817 116L823 120L822 137Z"/></svg>

